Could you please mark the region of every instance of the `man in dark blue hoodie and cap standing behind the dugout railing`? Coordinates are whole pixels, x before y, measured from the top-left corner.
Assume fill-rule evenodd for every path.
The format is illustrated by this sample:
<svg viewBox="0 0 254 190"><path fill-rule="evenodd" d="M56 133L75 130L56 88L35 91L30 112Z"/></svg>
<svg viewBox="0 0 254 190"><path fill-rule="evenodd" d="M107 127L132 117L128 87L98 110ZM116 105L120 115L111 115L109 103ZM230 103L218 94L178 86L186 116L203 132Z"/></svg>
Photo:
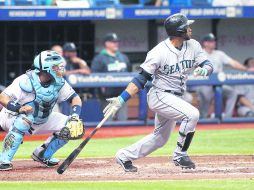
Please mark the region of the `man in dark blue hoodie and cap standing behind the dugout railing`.
<svg viewBox="0 0 254 190"><path fill-rule="evenodd" d="M92 72L127 72L130 71L128 57L119 51L119 39L115 33L108 33L104 38L104 49L96 55L91 65ZM102 107L106 98L117 96L124 88L105 88L100 91ZM127 105L116 115L118 120L127 120Z"/></svg>

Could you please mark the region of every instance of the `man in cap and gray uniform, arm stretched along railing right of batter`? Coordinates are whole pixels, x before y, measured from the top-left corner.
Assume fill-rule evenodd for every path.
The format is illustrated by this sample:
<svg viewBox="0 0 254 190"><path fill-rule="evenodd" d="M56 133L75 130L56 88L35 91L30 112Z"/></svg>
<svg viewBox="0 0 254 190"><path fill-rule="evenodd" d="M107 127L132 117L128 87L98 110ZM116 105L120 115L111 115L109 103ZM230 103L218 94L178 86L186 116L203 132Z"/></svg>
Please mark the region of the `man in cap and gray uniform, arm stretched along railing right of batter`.
<svg viewBox="0 0 254 190"><path fill-rule="evenodd" d="M213 64L213 73L223 72L223 65L230 65L232 68L246 71L246 67L238 61L229 57L226 53L216 50L216 39L212 33L206 34L202 38L202 46L207 54L208 59ZM214 92L212 86L201 86L197 88L199 97L200 117L208 117L208 110L212 103ZM231 87L223 86L223 96L226 97L225 103L225 117L232 117L235 103L237 100L237 93Z"/></svg>

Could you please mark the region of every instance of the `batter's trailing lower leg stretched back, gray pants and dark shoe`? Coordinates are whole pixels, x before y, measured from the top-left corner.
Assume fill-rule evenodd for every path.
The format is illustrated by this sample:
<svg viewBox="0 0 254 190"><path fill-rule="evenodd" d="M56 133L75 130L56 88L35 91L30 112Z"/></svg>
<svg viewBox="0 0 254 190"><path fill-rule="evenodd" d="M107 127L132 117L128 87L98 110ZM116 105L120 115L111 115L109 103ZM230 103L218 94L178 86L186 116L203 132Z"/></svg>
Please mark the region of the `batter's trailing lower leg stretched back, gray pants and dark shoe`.
<svg viewBox="0 0 254 190"><path fill-rule="evenodd" d="M145 157L162 147L168 141L175 124L175 121L156 114L155 129L153 133L126 148L120 149L116 153L117 162L122 165L125 171L129 171L126 167L131 165L131 160ZM124 165L125 163L127 163L126 166Z"/></svg>

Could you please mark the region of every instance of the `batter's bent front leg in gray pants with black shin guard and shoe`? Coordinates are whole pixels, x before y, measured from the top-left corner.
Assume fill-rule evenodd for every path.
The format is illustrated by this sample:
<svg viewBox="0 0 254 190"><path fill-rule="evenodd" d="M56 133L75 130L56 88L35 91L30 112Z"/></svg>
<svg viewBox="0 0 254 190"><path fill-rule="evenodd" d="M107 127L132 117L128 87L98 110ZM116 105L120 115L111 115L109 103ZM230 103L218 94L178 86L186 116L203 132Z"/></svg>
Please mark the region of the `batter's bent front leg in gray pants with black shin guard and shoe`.
<svg viewBox="0 0 254 190"><path fill-rule="evenodd" d="M151 100L153 101L149 101L150 108L159 115L170 120L182 121L173 161L183 168L195 168L195 164L187 155L187 150L199 119L198 109L180 97L165 92L156 91L152 94Z"/></svg>

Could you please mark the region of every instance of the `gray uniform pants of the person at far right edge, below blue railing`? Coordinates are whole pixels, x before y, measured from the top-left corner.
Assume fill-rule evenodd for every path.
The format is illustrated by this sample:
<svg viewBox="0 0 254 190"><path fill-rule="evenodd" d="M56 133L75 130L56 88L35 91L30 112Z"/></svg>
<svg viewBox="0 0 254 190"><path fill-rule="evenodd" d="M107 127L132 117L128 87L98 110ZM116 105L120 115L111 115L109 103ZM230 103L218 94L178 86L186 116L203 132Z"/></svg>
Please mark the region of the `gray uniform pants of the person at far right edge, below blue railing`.
<svg viewBox="0 0 254 190"><path fill-rule="evenodd" d="M253 94L254 86L253 85L242 85L242 86L236 86L235 88L239 95L246 97L252 103L252 105L254 105L254 94ZM239 103L237 108L237 114L242 117L248 116L248 114L252 115L254 114L254 109L251 109Z"/></svg>

